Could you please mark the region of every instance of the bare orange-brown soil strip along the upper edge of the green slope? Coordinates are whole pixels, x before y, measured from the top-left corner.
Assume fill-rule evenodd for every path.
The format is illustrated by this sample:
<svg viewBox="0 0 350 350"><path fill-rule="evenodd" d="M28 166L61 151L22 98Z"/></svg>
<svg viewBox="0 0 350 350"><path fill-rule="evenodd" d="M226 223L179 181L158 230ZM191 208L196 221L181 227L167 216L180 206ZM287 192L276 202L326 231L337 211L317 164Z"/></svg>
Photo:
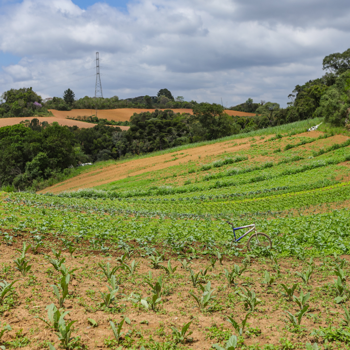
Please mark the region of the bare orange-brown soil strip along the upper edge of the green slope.
<svg viewBox="0 0 350 350"><path fill-rule="evenodd" d="M304 136L304 134L300 134ZM318 137L320 132L314 131L307 133L309 137ZM267 136L266 138L271 137ZM299 135L297 135L299 136ZM266 139L265 138L265 139ZM168 154L153 156L144 159L133 159L130 161L125 161L123 163L109 164L106 166L101 166L98 168L93 168L91 171L86 170L86 173L80 174L76 177L72 177L66 181L58 183L52 187L48 187L43 191L39 192L51 192L60 193L67 190L78 190L79 188L90 188L112 181L117 181L124 179L129 176L135 176L142 173L146 173L153 170L166 169L175 165L180 165L181 163L188 163L193 161L198 161L200 158L203 163L206 163L206 158L211 156L216 156L225 152L240 152L250 148L251 142L250 138L217 142L212 145L205 145L195 148L184 149L179 152L172 152ZM330 140L331 139L331 140ZM335 135L334 137L328 139L317 140L315 142L327 141L334 143L340 143L346 140L345 136ZM265 140L258 140L255 143L261 144ZM283 140L284 141L284 140ZM284 146L288 141L283 142ZM181 153L181 154L180 154ZM175 160L173 160L175 159Z"/></svg>

